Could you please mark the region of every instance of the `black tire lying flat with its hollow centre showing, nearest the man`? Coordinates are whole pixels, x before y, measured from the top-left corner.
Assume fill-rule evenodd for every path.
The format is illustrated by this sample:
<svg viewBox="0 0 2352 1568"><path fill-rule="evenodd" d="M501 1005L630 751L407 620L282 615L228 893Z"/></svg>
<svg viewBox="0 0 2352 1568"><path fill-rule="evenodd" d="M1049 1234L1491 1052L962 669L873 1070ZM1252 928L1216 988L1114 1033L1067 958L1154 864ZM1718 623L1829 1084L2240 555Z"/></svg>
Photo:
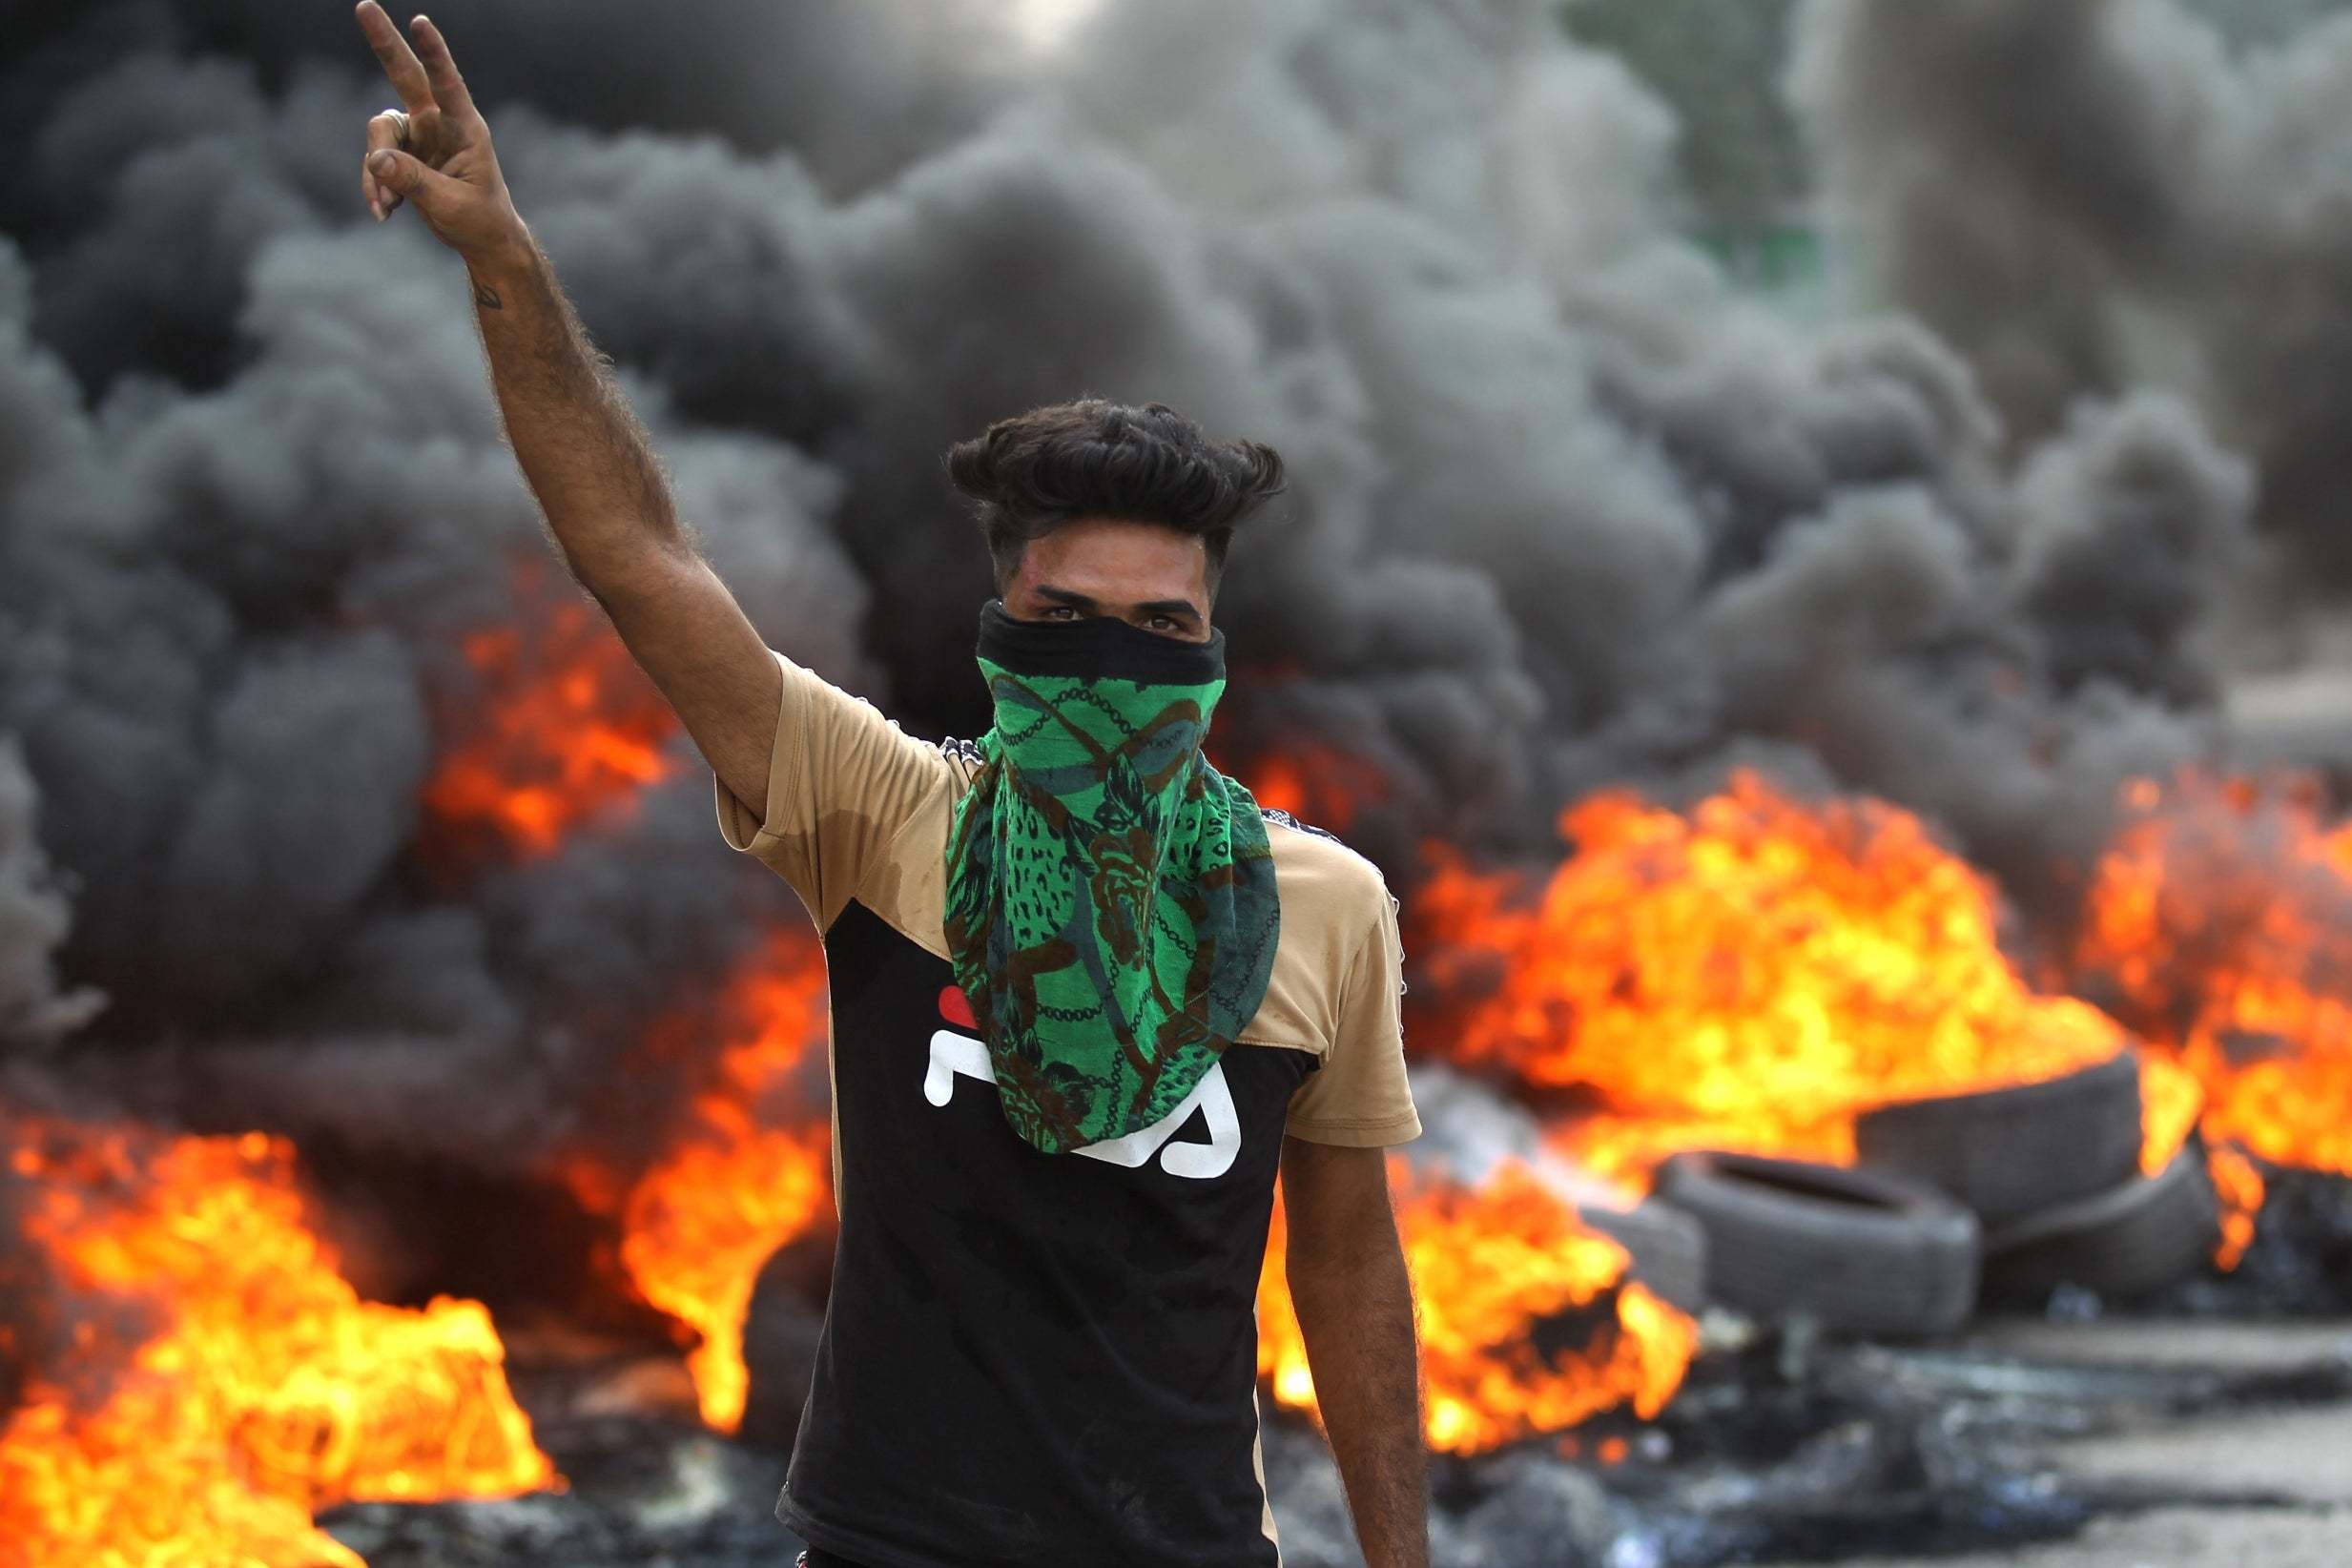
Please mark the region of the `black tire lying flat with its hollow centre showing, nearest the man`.
<svg viewBox="0 0 2352 1568"><path fill-rule="evenodd" d="M1976 1309L1976 1215L1886 1171L1689 1152L1658 1197L1708 1237L1708 1295L1752 1316L1936 1335Z"/></svg>

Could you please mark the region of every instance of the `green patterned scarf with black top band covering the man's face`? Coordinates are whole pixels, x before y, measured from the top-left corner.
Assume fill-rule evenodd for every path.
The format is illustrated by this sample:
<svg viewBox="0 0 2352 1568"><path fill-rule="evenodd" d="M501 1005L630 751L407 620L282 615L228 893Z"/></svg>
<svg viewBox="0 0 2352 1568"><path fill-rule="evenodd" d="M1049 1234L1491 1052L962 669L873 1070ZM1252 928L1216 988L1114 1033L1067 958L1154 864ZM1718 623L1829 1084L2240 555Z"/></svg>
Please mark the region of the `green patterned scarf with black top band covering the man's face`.
<svg viewBox="0 0 2352 1568"><path fill-rule="evenodd" d="M995 726L948 830L948 954L1004 1119L1061 1154L1174 1112L1265 997L1265 820L1200 743L1225 635L981 611Z"/></svg>

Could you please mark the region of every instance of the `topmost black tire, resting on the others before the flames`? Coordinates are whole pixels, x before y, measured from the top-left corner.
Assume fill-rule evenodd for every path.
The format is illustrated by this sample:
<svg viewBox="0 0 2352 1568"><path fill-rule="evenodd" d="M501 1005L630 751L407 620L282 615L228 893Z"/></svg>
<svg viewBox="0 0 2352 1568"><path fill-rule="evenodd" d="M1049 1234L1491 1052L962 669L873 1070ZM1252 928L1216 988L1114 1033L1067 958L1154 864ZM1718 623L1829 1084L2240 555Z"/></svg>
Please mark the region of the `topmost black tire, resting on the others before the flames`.
<svg viewBox="0 0 2352 1568"><path fill-rule="evenodd" d="M2042 1084L1898 1100L1853 1124L1860 1164L1952 1194L1987 1229L2131 1180L2140 1135L2136 1051Z"/></svg>

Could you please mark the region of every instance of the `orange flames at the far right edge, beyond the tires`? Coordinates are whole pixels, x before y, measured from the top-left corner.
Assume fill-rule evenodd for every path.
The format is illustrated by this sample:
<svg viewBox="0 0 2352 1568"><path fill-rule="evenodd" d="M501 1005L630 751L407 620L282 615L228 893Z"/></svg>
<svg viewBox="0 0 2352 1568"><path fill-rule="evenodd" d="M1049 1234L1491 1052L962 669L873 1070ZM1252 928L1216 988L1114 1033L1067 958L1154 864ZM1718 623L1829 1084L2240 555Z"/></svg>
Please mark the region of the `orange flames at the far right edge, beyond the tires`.
<svg viewBox="0 0 2352 1568"><path fill-rule="evenodd" d="M2204 1084L2213 1145L2352 1175L2352 825L2300 780L2183 773L2124 804L2077 980Z"/></svg>

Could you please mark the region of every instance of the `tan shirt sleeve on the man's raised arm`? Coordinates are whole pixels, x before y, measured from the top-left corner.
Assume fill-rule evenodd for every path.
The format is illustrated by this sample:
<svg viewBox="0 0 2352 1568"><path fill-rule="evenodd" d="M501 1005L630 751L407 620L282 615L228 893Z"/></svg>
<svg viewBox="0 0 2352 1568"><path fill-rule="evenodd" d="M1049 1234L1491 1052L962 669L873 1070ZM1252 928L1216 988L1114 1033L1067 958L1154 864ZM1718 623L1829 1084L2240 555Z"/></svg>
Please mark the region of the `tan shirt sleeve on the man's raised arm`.
<svg viewBox="0 0 2352 1568"><path fill-rule="evenodd" d="M776 654L769 649L769 654ZM793 884L823 931L948 776L936 745L898 729L861 696L776 654L783 701L767 762L767 820L710 776L720 837Z"/></svg>

